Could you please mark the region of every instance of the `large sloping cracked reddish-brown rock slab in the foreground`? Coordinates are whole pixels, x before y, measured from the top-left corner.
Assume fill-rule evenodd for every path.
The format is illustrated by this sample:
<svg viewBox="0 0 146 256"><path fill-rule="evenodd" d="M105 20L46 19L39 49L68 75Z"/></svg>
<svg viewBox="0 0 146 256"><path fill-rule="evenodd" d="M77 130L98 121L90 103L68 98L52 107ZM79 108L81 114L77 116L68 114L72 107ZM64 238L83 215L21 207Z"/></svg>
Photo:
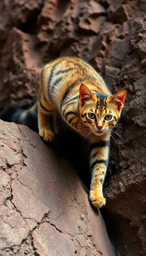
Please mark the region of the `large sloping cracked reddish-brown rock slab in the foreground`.
<svg viewBox="0 0 146 256"><path fill-rule="evenodd" d="M115 256L69 161L26 126L0 121L0 255Z"/></svg>

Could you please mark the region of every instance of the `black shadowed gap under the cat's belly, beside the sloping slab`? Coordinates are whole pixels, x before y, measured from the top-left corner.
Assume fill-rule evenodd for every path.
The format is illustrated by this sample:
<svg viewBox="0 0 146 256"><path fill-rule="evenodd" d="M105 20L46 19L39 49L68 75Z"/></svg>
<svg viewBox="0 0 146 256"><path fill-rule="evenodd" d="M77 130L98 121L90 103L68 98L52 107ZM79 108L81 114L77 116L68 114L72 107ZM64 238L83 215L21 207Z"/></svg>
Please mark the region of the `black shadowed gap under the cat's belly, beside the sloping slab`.
<svg viewBox="0 0 146 256"><path fill-rule="evenodd" d="M50 124L51 129L54 131L53 117L50 120ZM64 135L56 135L54 141L47 144L54 148L59 157L64 157L71 161L80 179L89 190L91 181L89 152L87 144L83 140L84 138L80 134L67 127Z"/></svg>

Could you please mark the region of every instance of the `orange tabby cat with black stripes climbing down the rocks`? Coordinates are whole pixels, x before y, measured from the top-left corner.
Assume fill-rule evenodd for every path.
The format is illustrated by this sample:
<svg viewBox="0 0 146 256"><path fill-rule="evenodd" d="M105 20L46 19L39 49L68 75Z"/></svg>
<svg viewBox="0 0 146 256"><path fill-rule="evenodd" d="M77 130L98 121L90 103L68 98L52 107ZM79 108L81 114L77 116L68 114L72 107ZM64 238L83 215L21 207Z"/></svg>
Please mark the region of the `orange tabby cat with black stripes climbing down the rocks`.
<svg viewBox="0 0 146 256"><path fill-rule="evenodd" d="M102 77L85 61L61 57L43 67L37 103L15 114L15 122L27 125L30 114L38 109L39 135L47 142L54 139L49 125L51 114L54 114L55 133L62 133L59 121L62 117L72 129L86 137L92 172L89 199L97 208L106 202L102 187L108 166L109 140L125 97L125 90L111 95Z"/></svg>

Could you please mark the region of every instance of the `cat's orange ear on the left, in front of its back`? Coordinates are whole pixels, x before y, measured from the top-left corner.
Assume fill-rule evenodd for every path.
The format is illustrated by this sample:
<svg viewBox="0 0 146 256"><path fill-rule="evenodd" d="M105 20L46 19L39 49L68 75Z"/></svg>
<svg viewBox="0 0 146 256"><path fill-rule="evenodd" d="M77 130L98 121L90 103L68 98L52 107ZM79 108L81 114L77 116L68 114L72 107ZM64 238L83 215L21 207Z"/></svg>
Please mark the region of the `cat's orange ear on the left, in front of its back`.
<svg viewBox="0 0 146 256"><path fill-rule="evenodd" d="M84 106L85 101L94 99L92 92L85 86L81 84L79 87L79 102L81 106Z"/></svg>

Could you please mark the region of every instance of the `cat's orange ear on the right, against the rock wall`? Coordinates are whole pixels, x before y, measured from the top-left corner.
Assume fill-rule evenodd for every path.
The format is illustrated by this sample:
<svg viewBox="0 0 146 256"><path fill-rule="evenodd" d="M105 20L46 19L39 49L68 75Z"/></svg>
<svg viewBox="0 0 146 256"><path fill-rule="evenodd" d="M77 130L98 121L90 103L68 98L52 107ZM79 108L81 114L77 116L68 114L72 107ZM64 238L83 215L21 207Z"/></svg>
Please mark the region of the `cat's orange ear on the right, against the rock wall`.
<svg viewBox="0 0 146 256"><path fill-rule="evenodd" d="M115 95L113 95L109 99L109 102L113 102L114 104L116 104L118 111L120 111L124 106L125 98L126 98L126 90L122 90L117 92Z"/></svg>

